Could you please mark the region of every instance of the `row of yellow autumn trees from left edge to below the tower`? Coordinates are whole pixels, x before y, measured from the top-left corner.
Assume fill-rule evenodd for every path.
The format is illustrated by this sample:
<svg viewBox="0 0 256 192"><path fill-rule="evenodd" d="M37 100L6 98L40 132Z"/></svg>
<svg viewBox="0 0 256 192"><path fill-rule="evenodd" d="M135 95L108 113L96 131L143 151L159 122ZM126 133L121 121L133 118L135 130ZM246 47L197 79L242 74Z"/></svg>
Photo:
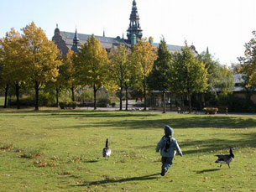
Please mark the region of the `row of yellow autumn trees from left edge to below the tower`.
<svg viewBox="0 0 256 192"><path fill-rule="evenodd" d="M156 49L146 39L139 40L132 50L121 45L107 54L100 41L91 35L76 54L70 49L63 57L54 42L34 23L22 31L19 34L11 29L0 40L1 86L5 87L6 98L9 86L15 86L18 108L23 86L34 86L35 110L39 110L39 90L46 85L55 87L57 105L61 90L70 88L74 101L76 88L85 86L93 88L95 109L97 91L102 86L112 90L121 87L122 93L123 86L128 91L129 86L143 85L145 96L145 79L157 57ZM121 94L120 101L122 105Z"/></svg>

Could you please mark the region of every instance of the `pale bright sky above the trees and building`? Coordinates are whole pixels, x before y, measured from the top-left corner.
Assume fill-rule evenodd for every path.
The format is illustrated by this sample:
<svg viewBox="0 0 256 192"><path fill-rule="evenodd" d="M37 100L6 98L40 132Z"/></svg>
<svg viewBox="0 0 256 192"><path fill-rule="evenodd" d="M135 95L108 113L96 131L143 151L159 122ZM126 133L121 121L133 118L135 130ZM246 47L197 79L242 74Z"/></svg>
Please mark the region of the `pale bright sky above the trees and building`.
<svg viewBox="0 0 256 192"><path fill-rule="evenodd" d="M222 65L238 64L256 30L256 0L136 0L143 36L209 52ZM0 0L0 38L34 23L49 39L60 31L124 37L133 0Z"/></svg>

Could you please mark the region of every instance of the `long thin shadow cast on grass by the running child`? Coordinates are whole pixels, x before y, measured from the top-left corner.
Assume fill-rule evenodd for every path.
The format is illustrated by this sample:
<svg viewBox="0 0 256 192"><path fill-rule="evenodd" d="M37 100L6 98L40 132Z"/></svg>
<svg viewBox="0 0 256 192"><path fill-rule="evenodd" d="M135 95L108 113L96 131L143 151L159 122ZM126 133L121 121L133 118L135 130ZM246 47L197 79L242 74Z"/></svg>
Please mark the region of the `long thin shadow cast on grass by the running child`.
<svg viewBox="0 0 256 192"><path fill-rule="evenodd" d="M99 180L99 181L92 181L86 184L77 184L74 186L91 186L91 185L99 185L99 184L114 184L114 183L122 183L122 182L128 182L128 181L138 181L138 180L151 180L151 179L157 179L156 175L159 174L149 174L144 175L140 177L132 177L132 178L125 178L125 179L105 179L105 180Z"/></svg>

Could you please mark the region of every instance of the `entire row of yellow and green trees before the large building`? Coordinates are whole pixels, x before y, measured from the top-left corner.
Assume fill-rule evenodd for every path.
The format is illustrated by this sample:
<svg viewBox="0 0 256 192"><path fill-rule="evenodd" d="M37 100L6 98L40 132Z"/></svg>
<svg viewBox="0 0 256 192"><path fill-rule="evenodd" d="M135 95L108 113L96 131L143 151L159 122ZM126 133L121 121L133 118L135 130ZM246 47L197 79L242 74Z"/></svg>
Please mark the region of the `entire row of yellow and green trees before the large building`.
<svg viewBox="0 0 256 192"><path fill-rule="evenodd" d="M97 91L101 87L119 90L122 110L123 90L126 91L128 109L129 87L143 91L146 109L149 90L162 91L164 97L166 91L185 95L191 106L192 94L233 85L231 70L213 60L208 51L196 54L186 43L180 52L170 53L164 38L159 49L147 39L138 39L132 48L120 45L107 53L100 41L91 35L77 53L70 49L62 56L54 42L48 40L44 31L34 23L22 31L23 34L19 34L11 29L0 39L0 86L5 87L6 96L8 87L15 87L18 108L19 90L23 86L34 87L35 110L39 110L39 90L44 86L55 88L57 106L60 91L70 89L75 101L78 87L91 87L95 109Z"/></svg>

